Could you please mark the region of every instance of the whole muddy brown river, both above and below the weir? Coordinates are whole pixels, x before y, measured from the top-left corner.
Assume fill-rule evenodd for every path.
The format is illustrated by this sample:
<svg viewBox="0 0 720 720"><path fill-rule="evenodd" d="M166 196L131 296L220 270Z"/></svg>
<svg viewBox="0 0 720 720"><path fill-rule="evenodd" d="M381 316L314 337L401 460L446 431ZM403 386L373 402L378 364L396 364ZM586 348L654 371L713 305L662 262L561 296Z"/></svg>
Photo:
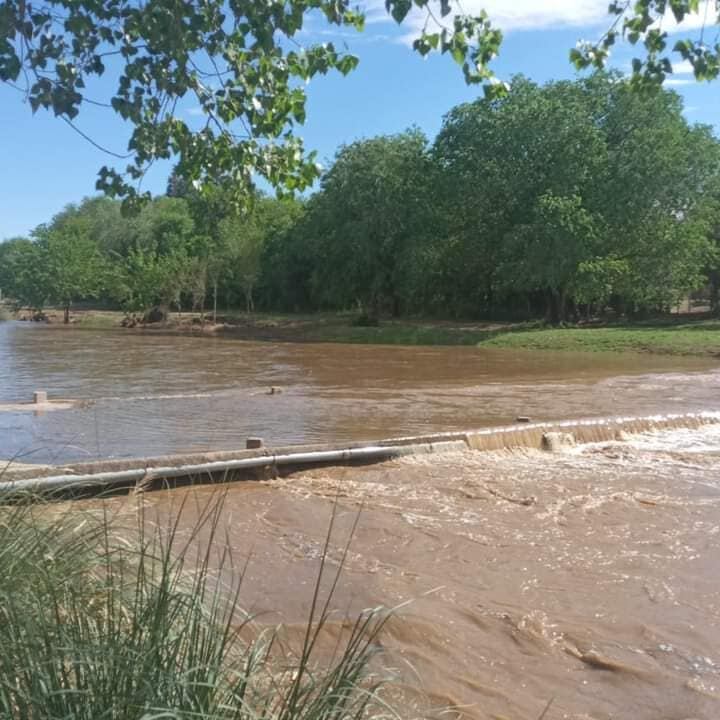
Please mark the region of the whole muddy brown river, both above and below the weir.
<svg viewBox="0 0 720 720"><path fill-rule="evenodd" d="M271 386L282 392L269 395ZM717 360L0 324L0 405L36 389L82 402L0 411L0 457L720 409ZM379 658L402 717L720 718L718 423L557 453L448 452L104 503L120 517L141 504L167 518L185 502L180 528L190 532L223 490L221 535L245 568L243 606L291 637L309 612L333 508L331 565L357 521L335 622L402 606Z"/></svg>

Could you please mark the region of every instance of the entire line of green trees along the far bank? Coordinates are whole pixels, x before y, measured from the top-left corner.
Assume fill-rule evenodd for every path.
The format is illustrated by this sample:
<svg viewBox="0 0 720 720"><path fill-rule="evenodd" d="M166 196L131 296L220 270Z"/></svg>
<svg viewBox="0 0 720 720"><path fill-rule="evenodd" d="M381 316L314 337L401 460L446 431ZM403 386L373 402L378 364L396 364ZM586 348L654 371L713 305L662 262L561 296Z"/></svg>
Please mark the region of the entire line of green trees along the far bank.
<svg viewBox="0 0 720 720"><path fill-rule="evenodd" d="M34 308L97 298L141 314L349 310L540 317L717 305L720 144L671 91L614 75L460 105L418 130L342 147L308 199L238 212L178 176L123 217L70 205L0 245L0 288Z"/></svg>

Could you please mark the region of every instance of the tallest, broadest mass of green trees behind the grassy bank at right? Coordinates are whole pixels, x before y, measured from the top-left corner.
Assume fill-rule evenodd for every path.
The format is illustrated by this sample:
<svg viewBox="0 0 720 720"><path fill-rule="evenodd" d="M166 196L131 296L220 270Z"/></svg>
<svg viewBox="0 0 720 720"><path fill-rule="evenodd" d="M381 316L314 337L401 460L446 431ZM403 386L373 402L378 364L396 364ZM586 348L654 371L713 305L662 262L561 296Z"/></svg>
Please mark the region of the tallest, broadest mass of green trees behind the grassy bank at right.
<svg viewBox="0 0 720 720"><path fill-rule="evenodd" d="M500 100L454 108L433 156L449 304L544 306L560 322L578 304L657 308L697 287L720 156L673 92L516 78Z"/></svg>

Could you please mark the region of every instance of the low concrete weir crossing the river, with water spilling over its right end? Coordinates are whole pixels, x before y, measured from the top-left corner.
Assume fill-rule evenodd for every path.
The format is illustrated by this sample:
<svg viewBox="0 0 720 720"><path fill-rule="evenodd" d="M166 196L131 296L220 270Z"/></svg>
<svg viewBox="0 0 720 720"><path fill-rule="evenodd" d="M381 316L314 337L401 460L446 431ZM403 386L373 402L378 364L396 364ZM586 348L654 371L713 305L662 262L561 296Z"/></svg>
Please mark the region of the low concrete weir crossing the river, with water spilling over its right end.
<svg viewBox="0 0 720 720"><path fill-rule="evenodd" d="M106 460L63 466L0 465L0 495L29 493L101 493L147 491L177 484L266 478L303 467L351 465L452 451L498 451L518 448L554 451L572 444L622 440L628 435L700 428L720 423L720 412L650 417L567 420L458 433L393 438L376 443L302 445L266 448L256 438L252 449Z"/></svg>

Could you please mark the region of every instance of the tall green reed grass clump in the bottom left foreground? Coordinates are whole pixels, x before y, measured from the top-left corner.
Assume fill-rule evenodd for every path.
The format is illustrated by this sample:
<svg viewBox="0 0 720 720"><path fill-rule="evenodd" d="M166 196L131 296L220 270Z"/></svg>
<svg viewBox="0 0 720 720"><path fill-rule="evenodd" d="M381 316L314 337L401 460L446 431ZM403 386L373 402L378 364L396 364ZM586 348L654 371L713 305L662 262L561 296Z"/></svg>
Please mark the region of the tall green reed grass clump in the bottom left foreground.
<svg viewBox="0 0 720 720"><path fill-rule="evenodd" d="M363 613L332 657L318 653L338 578L322 577L332 527L301 648L288 659L278 630L254 628L240 610L242 572L228 573L221 497L189 533L181 532L182 509L167 523L139 510L129 529L97 507L25 500L0 506L0 717L360 720L391 713L373 670L386 612ZM221 582L228 574L232 581ZM325 597L323 582L331 587Z"/></svg>

